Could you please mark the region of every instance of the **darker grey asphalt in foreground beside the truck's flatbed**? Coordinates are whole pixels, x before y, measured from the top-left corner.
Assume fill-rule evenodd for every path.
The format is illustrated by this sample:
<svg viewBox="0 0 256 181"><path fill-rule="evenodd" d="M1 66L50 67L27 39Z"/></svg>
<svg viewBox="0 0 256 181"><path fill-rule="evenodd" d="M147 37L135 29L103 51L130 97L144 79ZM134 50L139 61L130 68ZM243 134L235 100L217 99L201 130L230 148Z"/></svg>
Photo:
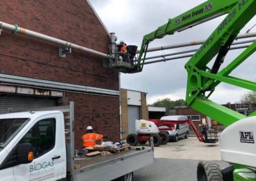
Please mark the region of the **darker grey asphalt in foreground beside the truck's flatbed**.
<svg viewBox="0 0 256 181"><path fill-rule="evenodd" d="M228 166L224 161L216 161L220 168ZM196 181L198 160L155 159L153 164L134 171L133 181Z"/></svg>

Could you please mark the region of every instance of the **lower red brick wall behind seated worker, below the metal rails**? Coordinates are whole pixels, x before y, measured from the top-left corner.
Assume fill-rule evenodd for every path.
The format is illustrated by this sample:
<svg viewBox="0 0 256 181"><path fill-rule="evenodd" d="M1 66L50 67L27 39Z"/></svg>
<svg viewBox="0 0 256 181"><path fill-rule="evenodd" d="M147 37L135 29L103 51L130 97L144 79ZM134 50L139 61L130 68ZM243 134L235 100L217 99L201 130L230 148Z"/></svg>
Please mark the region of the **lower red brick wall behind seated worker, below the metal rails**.
<svg viewBox="0 0 256 181"><path fill-rule="evenodd" d="M76 148L81 148L81 136L87 126L92 126L95 133L108 136L109 141L120 141L119 98L70 92L67 97L75 102Z"/></svg>

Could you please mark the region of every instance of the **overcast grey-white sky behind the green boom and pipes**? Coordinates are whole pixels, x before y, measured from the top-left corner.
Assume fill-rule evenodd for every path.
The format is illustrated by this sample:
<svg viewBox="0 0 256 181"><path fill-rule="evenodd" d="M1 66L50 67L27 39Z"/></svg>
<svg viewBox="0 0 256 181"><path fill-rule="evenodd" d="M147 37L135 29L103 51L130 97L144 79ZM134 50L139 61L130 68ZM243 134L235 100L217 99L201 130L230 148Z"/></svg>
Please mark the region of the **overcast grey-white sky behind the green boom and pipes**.
<svg viewBox="0 0 256 181"><path fill-rule="evenodd" d="M143 36L155 31L160 25L166 24L168 18L174 18L188 11L189 9L204 3L202 0L90 0L93 8L109 32L115 32L118 37L117 42L124 40L127 45L137 45L141 47ZM225 16L216 18L204 24L198 25L186 31L165 36L150 43L150 47L163 45L173 45L188 41L205 40L216 29ZM256 23L254 17L241 33L246 31ZM256 27L251 32L255 32ZM241 41L241 40L240 40ZM147 54L163 55L190 48L176 48L172 50L162 50ZM233 50L228 53L223 66L232 61L243 50ZM256 56L253 54L239 68L230 75L248 80L256 80ZM148 92L147 103L154 103L157 99L170 98L172 100L186 98L187 72L184 68L189 58L177 59L173 61L159 62L145 65L141 73L121 75L121 87L135 91ZM211 67L211 64L209 66ZM216 87L216 91L210 97L212 101L219 104L228 102L235 103L241 100L246 90L221 83Z"/></svg>

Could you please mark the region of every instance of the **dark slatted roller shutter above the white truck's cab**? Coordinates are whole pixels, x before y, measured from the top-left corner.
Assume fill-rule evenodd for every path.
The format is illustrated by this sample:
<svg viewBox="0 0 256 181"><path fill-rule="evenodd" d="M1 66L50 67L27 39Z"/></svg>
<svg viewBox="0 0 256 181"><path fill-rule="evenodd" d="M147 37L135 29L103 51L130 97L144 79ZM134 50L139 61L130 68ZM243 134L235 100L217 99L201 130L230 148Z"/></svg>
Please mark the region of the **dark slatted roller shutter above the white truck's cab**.
<svg viewBox="0 0 256 181"><path fill-rule="evenodd" d="M17 112L28 108L56 106L56 102L55 98L1 94L0 113L8 113L9 110L11 110L11 112Z"/></svg>

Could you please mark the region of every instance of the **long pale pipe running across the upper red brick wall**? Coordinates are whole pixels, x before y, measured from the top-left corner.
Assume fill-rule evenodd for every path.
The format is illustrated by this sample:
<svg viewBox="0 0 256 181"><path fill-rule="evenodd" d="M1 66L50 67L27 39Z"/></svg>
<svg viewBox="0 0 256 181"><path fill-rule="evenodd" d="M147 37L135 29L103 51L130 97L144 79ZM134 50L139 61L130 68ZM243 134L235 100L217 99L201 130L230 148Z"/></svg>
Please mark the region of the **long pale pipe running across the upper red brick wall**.
<svg viewBox="0 0 256 181"><path fill-rule="evenodd" d="M25 35L31 36L33 38L38 38L40 40L49 41L51 43L55 43L55 44L61 45L63 47L74 48L75 50L80 50L80 51L86 52L88 54L93 54L93 55L97 55L97 56L104 57L104 58L109 57L108 54L104 54L102 52L98 52L98 51L92 50L90 48L82 47L80 45L76 45L76 44L70 43L68 41L60 40L58 38L53 38L53 37L47 36L45 34L36 33L35 31L30 31L28 29L19 27L17 24L12 25L12 24L7 24L5 22L0 21L0 28L1 28L1 30L6 29L9 31L12 31L13 33L25 34ZM1 32L1 30L0 30L0 32Z"/></svg>

